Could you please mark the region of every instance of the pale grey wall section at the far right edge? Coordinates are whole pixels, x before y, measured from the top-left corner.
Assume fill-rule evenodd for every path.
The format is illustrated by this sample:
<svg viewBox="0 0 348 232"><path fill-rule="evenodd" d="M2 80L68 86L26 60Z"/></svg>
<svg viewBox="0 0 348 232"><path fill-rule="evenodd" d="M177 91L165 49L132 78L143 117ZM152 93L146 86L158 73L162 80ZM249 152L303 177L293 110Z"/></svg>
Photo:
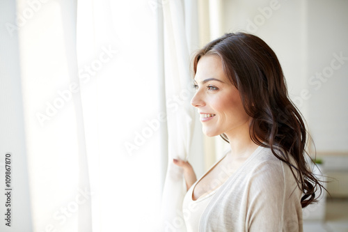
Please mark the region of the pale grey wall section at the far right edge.
<svg viewBox="0 0 348 232"><path fill-rule="evenodd" d="M322 153L348 152L347 10L348 1L308 1L308 123Z"/></svg>

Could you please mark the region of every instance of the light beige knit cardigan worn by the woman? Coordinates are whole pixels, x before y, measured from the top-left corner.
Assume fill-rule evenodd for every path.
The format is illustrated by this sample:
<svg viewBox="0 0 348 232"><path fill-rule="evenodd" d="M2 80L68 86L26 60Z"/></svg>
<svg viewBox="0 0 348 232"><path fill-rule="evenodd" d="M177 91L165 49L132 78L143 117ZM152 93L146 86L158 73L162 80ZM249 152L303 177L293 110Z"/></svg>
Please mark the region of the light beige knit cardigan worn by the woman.
<svg viewBox="0 0 348 232"><path fill-rule="evenodd" d="M290 167L258 147L214 194L199 231L303 231L301 196Z"/></svg>

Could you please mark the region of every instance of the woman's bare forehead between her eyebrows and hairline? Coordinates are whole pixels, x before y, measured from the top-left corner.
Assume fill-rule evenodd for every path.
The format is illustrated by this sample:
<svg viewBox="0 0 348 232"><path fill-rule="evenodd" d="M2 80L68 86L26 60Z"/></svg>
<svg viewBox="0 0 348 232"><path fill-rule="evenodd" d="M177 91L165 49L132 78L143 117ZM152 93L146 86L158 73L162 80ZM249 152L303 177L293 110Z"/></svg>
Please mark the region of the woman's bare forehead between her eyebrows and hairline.
<svg viewBox="0 0 348 232"><path fill-rule="evenodd" d="M205 55L198 61L195 82L202 82L207 78L220 79L223 82L228 80L223 72L221 58L217 55Z"/></svg>

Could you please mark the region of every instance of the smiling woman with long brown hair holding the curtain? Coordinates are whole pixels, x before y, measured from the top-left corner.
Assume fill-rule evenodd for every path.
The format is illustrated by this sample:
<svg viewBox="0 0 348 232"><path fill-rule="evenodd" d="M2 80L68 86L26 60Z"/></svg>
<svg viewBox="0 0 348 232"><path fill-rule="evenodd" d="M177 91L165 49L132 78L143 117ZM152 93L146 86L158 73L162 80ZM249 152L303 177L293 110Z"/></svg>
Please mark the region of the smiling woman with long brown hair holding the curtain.
<svg viewBox="0 0 348 232"><path fill-rule="evenodd" d="M257 36L227 33L198 51L193 72L203 132L230 149L199 180L189 162L173 160L187 183L187 230L303 231L302 208L322 184L276 54Z"/></svg>

